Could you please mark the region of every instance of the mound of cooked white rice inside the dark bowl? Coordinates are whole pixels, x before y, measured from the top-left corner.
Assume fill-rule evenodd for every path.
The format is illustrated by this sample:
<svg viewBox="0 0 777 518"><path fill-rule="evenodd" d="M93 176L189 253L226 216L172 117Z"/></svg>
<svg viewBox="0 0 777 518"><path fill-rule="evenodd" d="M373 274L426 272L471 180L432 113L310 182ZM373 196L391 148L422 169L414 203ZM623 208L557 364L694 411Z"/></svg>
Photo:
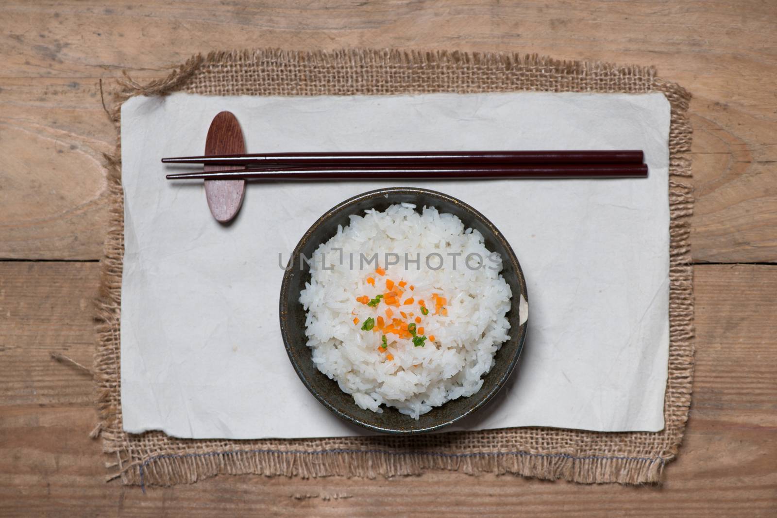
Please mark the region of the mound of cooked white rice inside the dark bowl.
<svg viewBox="0 0 777 518"><path fill-rule="evenodd" d="M350 225L339 227L336 236L315 251L311 281L302 290L300 302L308 312L305 334L319 371L336 380L363 409L380 413L381 405L393 406L418 419L432 407L472 395L483 385L481 377L490 371L494 355L509 338L505 315L511 293L499 274L498 254L486 249L479 232L465 230L458 217L440 214L434 207L424 207L421 213L414 208L403 203L385 212L368 210L364 216L350 216ZM443 261L430 256L435 253ZM373 254L378 254L385 275L376 273L375 261L367 264ZM395 260L390 254L397 254L399 264L387 265ZM465 264L469 254L477 255ZM410 261L406 263L405 257ZM420 263L412 262L416 257ZM431 269L439 264L440 269ZM386 296L375 307L363 303L365 299L357 302L357 298L397 292L398 286L386 287L388 279L406 283L405 291L396 297L399 306L387 306L386 299L391 302L391 298ZM434 299L433 294L446 300ZM411 297L412 304L403 303ZM444 304L435 304L436 300ZM394 325L386 309L402 322ZM378 316L384 324L381 329ZM416 336L423 328L427 337L423 347L416 347L407 333L401 337L390 332L406 329L416 317L421 319ZM375 327L363 330L370 318ZM389 332L384 333L387 326ZM382 348L384 335L388 347Z"/></svg>

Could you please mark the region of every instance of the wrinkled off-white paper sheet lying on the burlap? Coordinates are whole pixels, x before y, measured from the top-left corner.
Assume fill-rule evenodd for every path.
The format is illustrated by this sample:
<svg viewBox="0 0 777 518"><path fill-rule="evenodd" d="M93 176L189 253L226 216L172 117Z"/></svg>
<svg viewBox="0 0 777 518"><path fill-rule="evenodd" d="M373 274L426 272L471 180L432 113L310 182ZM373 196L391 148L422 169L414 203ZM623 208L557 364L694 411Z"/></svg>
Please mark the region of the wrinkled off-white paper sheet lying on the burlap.
<svg viewBox="0 0 777 518"><path fill-rule="evenodd" d="M669 348L669 104L660 94L136 97L122 108L124 430L176 437L365 433L300 382L278 326L291 250L333 205L396 182L249 184L232 226L164 156L202 154L213 116L249 152L642 149L639 180L420 182L473 205L528 283L528 339L497 400L458 429L664 427ZM453 428L448 430L454 430Z"/></svg>

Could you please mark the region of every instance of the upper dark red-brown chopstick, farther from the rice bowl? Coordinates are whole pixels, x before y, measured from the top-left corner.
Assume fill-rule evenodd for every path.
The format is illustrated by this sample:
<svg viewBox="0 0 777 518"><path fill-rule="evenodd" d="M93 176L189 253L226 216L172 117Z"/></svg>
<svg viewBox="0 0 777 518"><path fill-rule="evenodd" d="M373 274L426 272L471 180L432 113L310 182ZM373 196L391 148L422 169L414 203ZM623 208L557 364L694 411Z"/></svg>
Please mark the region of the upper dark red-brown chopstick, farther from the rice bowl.
<svg viewBox="0 0 777 518"><path fill-rule="evenodd" d="M162 158L165 164L333 167L399 164L642 164L641 150L399 151L364 153L227 154Z"/></svg>

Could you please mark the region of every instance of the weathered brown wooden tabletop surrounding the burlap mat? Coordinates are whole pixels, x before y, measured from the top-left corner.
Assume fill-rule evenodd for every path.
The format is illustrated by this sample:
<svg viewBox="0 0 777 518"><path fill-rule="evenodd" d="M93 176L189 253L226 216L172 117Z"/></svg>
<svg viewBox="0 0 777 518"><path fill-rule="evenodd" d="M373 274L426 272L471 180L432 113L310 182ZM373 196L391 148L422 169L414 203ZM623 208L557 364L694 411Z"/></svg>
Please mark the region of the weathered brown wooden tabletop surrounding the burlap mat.
<svg viewBox="0 0 777 518"><path fill-rule="evenodd" d="M97 2L0 5L0 514L777 515L777 3ZM663 487L455 472L106 483L89 375L106 231L99 79L234 47L500 50L653 64L694 95L696 374Z"/></svg>

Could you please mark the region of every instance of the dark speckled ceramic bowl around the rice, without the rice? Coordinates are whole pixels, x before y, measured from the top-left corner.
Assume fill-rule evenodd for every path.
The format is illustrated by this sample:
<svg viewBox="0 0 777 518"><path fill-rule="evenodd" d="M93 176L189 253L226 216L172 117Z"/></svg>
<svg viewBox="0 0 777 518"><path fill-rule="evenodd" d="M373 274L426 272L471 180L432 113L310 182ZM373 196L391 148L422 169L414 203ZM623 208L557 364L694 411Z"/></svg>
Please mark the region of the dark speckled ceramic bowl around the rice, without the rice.
<svg viewBox="0 0 777 518"><path fill-rule="evenodd" d="M491 371L483 376L481 389L469 397L454 399L442 406L434 407L430 412L420 416L419 420L414 420L394 408L385 406L382 406L383 413L361 409L351 395L340 390L337 382L322 374L313 364L311 351L306 345L305 309L299 302L300 292L305 288L305 282L310 280L310 272L304 261L303 268L299 268L301 254L304 254L304 257L312 257L314 250L321 243L326 243L336 234L338 225L349 224L348 216L364 214L366 209L383 211L389 205L401 202L415 204L416 210L427 205L436 207L441 213L450 212L458 216L465 227L472 227L483 234L486 248L501 255L503 263L501 274L510 285L513 294L512 307L507 313L507 319L510 321L510 340L502 344L497 351ZM280 288L280 332L283 335L289 359L302 383L312 395L315 395L326 408L350 423L377 432L398 434L423 433L448 426L482 408L493 398L507 382L521 354L527 323L521 324L518 318L520 295L528 301L521 265L518 264L510 244L486 219L486 216L452 196L427 189L407 187L383 188L354 196L336 205L313 223L291 254L290 264L293 267L285 272Z"/></svg>

